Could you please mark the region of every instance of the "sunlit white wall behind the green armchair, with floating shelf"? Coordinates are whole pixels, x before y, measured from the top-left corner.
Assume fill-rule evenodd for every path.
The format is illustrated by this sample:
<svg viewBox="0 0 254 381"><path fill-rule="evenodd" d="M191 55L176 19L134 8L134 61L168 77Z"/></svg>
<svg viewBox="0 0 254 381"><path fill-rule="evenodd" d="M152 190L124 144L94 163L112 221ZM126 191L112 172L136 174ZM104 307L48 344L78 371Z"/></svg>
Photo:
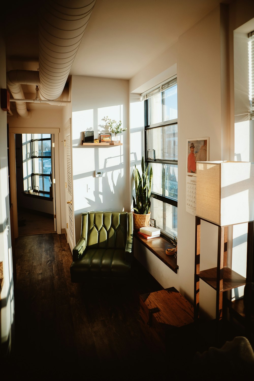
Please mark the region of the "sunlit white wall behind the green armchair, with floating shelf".
<svg viewBox="0 0 254 381"><path fill-rule="evenodd" d="M109 78L72 78L73 196L76 242L81 231L81 213L90 210L130 211L128 81ZM104 116L122 121L127 131L119 134L122 146L81 146L83 131L94 138L108 133ZM95 170L105 177L95 178Z"/></svg>

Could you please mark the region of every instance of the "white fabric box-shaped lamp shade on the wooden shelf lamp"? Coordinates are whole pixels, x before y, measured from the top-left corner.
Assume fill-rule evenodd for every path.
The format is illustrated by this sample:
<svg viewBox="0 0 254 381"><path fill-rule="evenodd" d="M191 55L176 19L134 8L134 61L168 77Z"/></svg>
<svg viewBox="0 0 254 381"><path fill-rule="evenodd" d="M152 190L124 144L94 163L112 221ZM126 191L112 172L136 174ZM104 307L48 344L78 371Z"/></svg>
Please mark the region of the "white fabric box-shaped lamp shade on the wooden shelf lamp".
<svg viewBox="0 0 254 381"><path fill-rule="evenodd" d="M254 163L197 162L197 216L219 226L254 220Z"/></svg>

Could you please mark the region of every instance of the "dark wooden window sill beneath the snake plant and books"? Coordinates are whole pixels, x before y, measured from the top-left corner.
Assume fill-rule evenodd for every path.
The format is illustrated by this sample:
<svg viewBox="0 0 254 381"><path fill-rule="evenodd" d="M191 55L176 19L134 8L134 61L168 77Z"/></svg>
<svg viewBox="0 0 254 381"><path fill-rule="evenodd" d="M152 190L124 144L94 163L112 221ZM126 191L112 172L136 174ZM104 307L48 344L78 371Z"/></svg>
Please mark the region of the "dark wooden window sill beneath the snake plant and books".
<svg viewBox="0 0 254 381"><path fill-rule="evenodd" d="M165 265L167 265L172 271L177 273L178 264L177 258L173 255L167 255L165 253L166 249L173 248L174 246L168 242L163 237L157 237L152 239L145 239L141 237L137 232L133 232L133 237L135 237L142 245L148 248L154 255L157 256Z"/></svg>

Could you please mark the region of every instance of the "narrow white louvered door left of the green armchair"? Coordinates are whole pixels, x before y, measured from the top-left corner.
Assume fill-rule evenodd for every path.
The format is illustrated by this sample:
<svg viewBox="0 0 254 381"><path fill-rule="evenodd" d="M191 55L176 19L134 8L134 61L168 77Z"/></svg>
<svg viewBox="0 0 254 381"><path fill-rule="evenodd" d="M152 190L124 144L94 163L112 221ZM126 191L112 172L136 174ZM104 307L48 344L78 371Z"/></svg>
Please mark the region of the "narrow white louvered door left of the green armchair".
<svg viewBox="0 0 254 381"><path fill-rule="evenodd" d="M72 199L72 171L71 171L71 135L70 126L65 132L65 199L67 217L67 239L71 252L74 246L74 226L73 226L73 199Z"/></svg>

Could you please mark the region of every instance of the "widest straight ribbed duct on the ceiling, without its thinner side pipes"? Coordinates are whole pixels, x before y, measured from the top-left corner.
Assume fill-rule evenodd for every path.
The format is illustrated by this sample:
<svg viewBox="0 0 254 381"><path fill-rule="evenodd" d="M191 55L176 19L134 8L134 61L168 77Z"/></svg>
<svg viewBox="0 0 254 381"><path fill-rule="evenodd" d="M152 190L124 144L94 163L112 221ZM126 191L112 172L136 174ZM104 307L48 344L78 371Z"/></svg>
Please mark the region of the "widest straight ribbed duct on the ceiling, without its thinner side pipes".
<svg viewBox="0 0 254 381"><path fill-rule="evenodd" d="M58 99L95 0L43 1L39 13L40 98Z"/></svg>

